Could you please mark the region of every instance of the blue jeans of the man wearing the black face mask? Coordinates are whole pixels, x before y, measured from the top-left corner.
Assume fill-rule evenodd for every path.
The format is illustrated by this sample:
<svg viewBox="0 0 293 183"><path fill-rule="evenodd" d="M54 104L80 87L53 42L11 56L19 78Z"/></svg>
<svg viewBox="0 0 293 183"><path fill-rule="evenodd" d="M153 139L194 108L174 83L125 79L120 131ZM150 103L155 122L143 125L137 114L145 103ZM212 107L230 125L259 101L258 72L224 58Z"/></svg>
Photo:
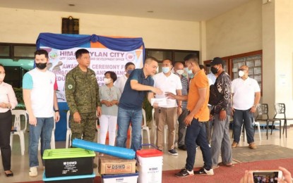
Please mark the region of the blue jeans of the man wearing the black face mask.
<svg viewBox="0 0 293 183"><path fill-rule="evenodd" d="M37 147L41 137L41 156L44 150L51 149L51 136L54 127L54 118L37 118L37 125L30 125L30 144L28 147L28 156L30 158L30 167L39 165L37 158ZM44 161L42 162L44 165Z"/></svg>

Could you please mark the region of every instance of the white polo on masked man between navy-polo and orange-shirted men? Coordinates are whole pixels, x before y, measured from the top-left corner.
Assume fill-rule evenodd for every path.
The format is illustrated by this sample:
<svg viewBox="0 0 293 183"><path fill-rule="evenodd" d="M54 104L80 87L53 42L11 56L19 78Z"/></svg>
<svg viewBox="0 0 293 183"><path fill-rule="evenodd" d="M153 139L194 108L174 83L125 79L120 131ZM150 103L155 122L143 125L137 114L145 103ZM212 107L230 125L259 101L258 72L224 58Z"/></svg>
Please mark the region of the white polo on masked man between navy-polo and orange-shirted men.
<svg viewBox="0 0 293 183"><path fill-rule="evenodd" d="M155 98L161 99L166 98L165 92L171 92L176 94L177 89L182 89L180 77L171 72L171 75L166 77L163 72L157 73L153 76L155 81L154 87L160 88L163 92L162 95L155 94ZM167 99L167 106L160 106L163 108L174 108L177 107L177 101L174 99Z"/></svg>

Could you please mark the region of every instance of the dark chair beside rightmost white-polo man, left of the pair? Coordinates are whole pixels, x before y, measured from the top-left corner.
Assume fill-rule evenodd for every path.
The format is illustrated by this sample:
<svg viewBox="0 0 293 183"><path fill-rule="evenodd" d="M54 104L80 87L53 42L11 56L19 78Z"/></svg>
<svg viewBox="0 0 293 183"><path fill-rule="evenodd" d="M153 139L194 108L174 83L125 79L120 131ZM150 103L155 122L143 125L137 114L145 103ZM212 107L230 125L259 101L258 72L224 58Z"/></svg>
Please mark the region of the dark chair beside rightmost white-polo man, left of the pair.
<svg viewBox="0 0 293 183"><path fill-rule="evenodd" d="M258 103L258 106L256 106L256 109L258 111L258 115L256 116L256 122L259 122L259 123L265 122L266 129L267 129L266 135L267 135L267 139L268 139L268 125L269 125L270 121L273 122L272 130L270 132L270 134L272 134L274 122L279 121L280 127L281 127L281 120L268 118L268 103ZM281 138L281 129L280 129L280 138Z"/></svg>

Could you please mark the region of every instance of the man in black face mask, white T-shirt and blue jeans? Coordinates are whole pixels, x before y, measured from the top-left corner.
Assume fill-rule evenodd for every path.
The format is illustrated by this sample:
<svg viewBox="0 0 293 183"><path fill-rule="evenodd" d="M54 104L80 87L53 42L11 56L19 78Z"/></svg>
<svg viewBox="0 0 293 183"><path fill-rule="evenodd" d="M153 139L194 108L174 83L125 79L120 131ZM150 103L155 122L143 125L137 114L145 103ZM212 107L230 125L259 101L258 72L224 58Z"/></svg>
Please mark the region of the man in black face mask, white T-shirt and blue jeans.
<svg viewBox="0 0 293 183"><path fill-rule="evenodd" d="M44 150L51 149L50 142L55 121L58 122L59 108L56 97L56 79L47 70L48 52L35 51L36 68L23 75L23 101L30 122L30 144L28 147L30 177L37 176L37 149L41 138L41 156ZM43 162L44 165L44 162Z"/></svg>

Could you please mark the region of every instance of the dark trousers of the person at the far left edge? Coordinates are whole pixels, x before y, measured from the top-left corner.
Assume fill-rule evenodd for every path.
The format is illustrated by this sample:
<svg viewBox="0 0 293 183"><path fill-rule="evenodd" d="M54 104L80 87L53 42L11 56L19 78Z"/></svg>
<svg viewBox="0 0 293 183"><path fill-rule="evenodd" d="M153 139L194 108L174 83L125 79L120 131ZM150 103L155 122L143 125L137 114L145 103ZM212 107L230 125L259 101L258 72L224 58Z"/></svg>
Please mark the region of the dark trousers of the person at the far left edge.
<svg viewBox="0 0 293 183"><path fill-rule="evenodd" d="M4 171L11 170L10 134L12 126L11 111L0 113L0 148Z"/></svg>

